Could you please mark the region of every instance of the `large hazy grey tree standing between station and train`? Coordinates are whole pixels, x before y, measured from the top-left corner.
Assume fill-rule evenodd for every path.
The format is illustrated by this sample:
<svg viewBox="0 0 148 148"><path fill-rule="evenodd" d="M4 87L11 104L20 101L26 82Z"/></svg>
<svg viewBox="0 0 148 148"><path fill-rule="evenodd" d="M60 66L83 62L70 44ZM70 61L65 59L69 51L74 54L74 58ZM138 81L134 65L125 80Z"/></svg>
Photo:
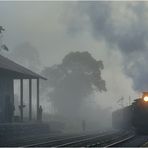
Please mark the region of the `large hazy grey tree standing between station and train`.
<svg viewBox="0 0 148 148"><path fill-rule="evenodd" d="M95 60L88 52L71 52L62 63L42 71L48 79L42 84L59 114L75 116L80 113L83 101L94 91L106 91L101 77L102 61Z"/></svg>

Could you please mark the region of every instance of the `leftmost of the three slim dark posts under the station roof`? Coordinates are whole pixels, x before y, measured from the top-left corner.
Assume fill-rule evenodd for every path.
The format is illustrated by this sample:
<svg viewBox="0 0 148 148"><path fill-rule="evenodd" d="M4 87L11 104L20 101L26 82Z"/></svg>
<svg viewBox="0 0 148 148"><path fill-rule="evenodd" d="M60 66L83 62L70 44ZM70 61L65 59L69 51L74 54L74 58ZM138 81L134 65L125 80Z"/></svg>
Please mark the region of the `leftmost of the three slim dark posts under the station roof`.
<svg viewBox="0 0 148 148"><path fill-rule="evenodd" d="M23 79L20 79L20 116L23 121Z"/></svg>

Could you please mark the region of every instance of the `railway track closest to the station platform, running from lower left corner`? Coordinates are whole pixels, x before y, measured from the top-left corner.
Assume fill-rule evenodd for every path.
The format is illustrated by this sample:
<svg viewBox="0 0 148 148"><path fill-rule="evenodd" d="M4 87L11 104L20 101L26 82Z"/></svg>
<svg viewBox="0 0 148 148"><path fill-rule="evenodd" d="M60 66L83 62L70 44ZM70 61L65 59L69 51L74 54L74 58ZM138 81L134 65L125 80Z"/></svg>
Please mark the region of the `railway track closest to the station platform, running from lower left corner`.
<svg viewBox="0 0 148 148"><path fill-rule="evenodd" d="M88 135L94 135L98 133L106 133L106 131L97 131L97 132L85 132L85 133L56 133L56 134L40 134L40 135L30 135L29 137L12 137L11 139L2 140L0 146L35 146L36 144L43 144L49 141L56 141L61 139L69 139L72 137L85 137Z"/></svg>

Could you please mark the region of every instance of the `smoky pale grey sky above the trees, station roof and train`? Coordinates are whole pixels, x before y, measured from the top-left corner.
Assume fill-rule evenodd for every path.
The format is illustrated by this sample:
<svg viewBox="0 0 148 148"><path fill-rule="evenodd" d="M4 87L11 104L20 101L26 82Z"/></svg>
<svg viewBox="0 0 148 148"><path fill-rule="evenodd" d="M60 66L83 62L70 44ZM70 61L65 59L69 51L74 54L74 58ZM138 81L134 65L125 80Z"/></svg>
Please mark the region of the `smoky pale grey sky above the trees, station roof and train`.
<svg viewBox="0 0 148 148"><path fill-rule="evenodd" d="M0 2L10 49L5 54L17 59L14 51L29 43L43 68L60 64L71 51L88 51L104 64L107 92L95 101L119 108L121 97L127 105L129 96L134 100L148 90L147 12L147 2Z"/></svg>

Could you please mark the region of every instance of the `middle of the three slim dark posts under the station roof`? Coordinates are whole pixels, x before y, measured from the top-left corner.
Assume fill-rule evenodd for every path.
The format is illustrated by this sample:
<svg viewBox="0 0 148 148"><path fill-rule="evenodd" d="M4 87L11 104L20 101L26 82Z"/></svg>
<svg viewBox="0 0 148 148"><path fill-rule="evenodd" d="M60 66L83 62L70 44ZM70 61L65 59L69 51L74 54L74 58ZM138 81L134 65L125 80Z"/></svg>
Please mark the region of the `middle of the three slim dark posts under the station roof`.
<svg viewBox="0 0 148 148"><path fill-rule="evenodd" d="M29 120L32 120L32 80L29 79Z"/></svg>

